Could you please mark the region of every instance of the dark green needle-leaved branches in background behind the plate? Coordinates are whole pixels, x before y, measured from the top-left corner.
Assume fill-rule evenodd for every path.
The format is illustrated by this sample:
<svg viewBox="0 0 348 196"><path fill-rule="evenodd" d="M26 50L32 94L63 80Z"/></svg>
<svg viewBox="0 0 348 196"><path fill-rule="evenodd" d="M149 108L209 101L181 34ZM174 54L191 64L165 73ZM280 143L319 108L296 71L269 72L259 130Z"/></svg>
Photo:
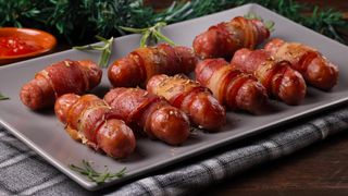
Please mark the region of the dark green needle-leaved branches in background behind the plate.
<svg viewBox="0 0 348 196"><path fill-rule="evenodd" d="M159 12L145 5L142 0L0 0L0 26L40 28L71 44L87 44L95 41L96 35L116 37L126 34L120 26L144 28L158 22L171 24L250 2L345 42L337 32L348 28L343 13L293 0L174 1ZM311 14L303 14L308 11Z"/></svg>

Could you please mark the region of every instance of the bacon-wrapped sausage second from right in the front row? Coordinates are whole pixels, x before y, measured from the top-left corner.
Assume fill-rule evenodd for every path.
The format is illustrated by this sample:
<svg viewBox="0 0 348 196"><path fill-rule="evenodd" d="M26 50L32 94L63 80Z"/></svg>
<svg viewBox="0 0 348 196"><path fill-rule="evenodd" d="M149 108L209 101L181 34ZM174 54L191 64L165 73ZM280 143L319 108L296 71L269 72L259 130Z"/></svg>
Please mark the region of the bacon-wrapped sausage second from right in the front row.
<svg viewBox="0 0 348 196"><path fill-rule="evenodd" d="M300 73L291 69L288 61L275 61L264 50L240 49L231 64L253 74L268 90L287 105L299 105L306 95L306 83Z"/></svg>

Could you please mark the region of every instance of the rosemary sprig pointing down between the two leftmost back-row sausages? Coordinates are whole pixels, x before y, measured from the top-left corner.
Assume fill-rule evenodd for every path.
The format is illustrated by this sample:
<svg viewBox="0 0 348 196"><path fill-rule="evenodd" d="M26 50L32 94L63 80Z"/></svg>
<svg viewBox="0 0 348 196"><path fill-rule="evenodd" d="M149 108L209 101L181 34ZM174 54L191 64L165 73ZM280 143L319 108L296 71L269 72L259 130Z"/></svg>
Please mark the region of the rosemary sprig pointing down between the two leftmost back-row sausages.
<svg viewBox="0 0 348 196"><path fill-rule="evenodd" d="M101 56L99 58L99 66L101 68L108 68L109 60L112 52L112 44L113 44L113 37L110 39L105 39L101 36L96 36L96 39L104 42L104 46L95 46L95 45L86 45L86 46L76 46L73 47L77 50L99 50L101 51Z"/></svg>

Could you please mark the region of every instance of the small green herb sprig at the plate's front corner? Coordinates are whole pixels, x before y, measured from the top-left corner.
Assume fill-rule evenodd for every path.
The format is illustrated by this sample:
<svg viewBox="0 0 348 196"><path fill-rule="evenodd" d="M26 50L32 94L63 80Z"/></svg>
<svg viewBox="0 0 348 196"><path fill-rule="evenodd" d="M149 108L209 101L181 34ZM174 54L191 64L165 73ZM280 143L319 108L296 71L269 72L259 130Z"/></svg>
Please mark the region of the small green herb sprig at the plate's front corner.
<svg viewBox="0 0 348 196"><path fill-rule="evenodd" d="M105 170L103 172L98 172L91 167L89 161L86 161L84 159L82 163L83 163L82 167L70 164L69 168L75 172L86 175L91 182L95 182L97 184L102 184L107 180L110 180L113 177L123 177L124 174L126 173L126 168L123 168L115 173L111 173L109 172L109 169L105 167Z"/></svg>

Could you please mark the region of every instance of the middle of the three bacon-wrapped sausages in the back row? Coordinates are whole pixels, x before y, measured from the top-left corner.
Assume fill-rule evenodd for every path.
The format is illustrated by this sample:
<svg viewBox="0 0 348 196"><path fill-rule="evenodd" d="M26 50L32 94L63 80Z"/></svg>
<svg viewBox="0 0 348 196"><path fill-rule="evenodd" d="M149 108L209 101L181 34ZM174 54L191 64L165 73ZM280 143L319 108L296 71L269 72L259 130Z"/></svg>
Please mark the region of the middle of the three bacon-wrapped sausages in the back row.
<svg viewBox="0 0 348 196"><path fill-rule="evenodd" d="M188 74L194 71L196 56L190 48L167 44L138 48L112 63L108 76L114 87L145 86L157 74Z"/></svg>

